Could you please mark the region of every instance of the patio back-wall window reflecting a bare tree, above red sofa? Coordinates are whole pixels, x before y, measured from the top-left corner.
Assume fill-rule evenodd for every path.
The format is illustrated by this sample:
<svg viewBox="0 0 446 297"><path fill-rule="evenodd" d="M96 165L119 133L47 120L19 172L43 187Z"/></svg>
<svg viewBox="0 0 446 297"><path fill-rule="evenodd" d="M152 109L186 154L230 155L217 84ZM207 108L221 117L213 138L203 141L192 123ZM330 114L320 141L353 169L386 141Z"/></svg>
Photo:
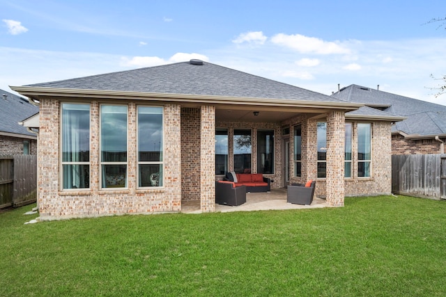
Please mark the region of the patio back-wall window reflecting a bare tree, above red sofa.
<svg viewBox="0 0 446 297"><path fill-rule="evenodd" d="M234 130L234 170L251 172L251 130Z"/></svg>

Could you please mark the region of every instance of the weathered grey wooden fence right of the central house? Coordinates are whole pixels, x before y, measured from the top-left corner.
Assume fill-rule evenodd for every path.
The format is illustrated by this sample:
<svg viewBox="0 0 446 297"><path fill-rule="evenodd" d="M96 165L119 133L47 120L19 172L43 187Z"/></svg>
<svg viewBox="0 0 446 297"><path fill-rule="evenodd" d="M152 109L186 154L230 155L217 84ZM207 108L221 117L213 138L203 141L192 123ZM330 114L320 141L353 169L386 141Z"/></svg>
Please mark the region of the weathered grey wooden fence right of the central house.
<svg viewBox="0 0 446 297"><path fill-rule="evenodd" d="M392 193L446 199L446 154L393 155Z"/></svg>

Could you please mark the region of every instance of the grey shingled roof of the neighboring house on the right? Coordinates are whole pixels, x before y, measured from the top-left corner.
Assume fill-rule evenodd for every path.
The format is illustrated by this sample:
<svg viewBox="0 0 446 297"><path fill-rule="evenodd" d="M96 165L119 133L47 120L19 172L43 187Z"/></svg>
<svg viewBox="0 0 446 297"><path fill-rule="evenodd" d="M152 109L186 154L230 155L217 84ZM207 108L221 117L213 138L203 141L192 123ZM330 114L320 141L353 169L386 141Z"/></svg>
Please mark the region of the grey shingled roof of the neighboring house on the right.
<svg viewBox="0 0 446 297"><path fill-rule="evenodd" d="M408 138L446 136L446 106L357 85L341 88L332 97L405 117L392 125L392 132Z"/></svg>

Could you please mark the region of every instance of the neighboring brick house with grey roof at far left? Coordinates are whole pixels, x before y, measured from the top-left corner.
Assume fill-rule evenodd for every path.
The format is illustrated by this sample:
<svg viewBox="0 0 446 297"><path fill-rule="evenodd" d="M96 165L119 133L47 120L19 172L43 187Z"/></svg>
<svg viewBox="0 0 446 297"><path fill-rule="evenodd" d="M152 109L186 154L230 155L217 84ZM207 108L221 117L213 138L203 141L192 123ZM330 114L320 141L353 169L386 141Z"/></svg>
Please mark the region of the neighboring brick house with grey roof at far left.
<svg viewBox="0 0 446 297"><path fill-rule="evenodd" d="M37 136L19 122L38 113L28 99L0 90L0 154L37 154Z"/></svg>

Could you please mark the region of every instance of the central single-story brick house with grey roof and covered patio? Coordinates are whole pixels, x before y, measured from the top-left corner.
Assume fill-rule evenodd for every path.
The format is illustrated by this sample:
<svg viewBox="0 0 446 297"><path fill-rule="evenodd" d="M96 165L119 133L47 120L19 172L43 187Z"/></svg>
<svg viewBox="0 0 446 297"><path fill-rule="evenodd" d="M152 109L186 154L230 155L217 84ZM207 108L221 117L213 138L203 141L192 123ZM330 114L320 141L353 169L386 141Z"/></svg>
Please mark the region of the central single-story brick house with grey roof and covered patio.
<svg viewBox="0 0 446 297"><path fill-rule="evenodd" d="M12 87L40 102L40 218L215 211L227 171L316 195L391 193L391 123L403 118L191 60Z"/></svg>

